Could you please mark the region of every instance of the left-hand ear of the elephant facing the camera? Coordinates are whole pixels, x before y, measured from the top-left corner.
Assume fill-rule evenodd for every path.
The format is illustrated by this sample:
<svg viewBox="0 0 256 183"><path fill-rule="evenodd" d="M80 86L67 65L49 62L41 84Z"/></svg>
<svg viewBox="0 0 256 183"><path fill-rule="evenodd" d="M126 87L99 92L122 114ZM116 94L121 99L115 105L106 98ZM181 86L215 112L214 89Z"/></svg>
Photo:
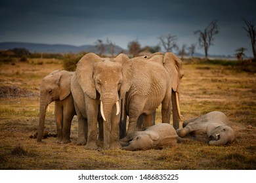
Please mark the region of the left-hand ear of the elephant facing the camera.
<svg viewBox="0 0 256 183"><path fill-rule="evenodd" d="M96 99L95 80L93 80L93 65L97 61L103 59L96 54L89 53L83 56L77 63L75 77L84 93L89 95L91 99Z"/></svg>

